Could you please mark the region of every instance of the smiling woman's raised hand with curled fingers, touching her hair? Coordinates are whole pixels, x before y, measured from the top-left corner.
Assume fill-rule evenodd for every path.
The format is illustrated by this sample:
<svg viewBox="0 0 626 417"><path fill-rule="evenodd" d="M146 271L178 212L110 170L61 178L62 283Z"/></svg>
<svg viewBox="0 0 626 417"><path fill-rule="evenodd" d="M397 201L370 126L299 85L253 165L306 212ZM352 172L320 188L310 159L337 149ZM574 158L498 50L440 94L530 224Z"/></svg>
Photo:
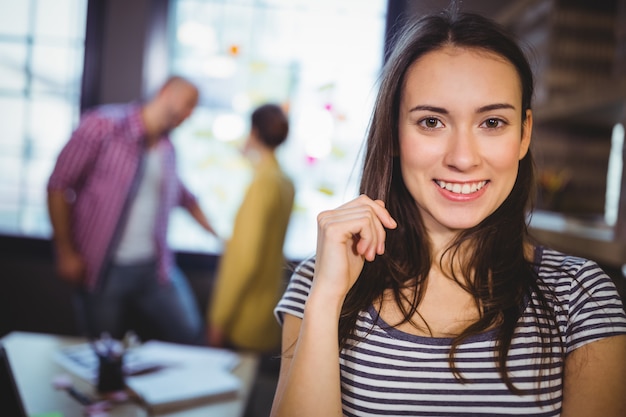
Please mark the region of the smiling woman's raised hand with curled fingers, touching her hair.
<svg viewBox="0 0 626 417"><path fill-rule="evenodd" d="M387 229L395 229L385 203L366 195L317 216L314 287L338 301L358 278L365 260L385 252Z"/></svg>

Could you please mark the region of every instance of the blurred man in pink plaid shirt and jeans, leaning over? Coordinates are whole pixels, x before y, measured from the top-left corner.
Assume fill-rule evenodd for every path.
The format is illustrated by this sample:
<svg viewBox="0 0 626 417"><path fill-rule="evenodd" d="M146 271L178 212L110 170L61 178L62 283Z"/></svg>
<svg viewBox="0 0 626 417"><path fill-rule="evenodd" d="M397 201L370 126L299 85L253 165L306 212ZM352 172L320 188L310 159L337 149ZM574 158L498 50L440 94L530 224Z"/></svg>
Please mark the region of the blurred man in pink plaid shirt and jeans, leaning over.
<svg viewBox="0 0 626 417"><path fill-rule="evenodd" d="M175 206L214 234L176 173L169 139L197 102L192 83L171 77L146 103L85 113L59 154L48 182L57 273L75 286L76 315L89 337L122 337L132 311L157 338L205 342L195 299L166 243Z"/></svg>

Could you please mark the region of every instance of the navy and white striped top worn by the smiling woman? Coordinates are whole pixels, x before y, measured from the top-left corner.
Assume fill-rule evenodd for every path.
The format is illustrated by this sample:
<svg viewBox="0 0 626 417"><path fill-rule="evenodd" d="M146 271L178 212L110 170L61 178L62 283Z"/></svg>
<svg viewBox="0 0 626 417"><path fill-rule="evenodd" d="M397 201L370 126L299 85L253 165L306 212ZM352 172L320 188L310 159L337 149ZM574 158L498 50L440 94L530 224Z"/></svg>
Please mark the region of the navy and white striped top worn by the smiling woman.
<svg viewBox="0 0 626 417"><path fill-rule="evenodd" d="M359 342L340 352L341 389L345 416L559 416L564 356L602 338L626 334L626 314L614 283L593 261L538 248L539 284L546 289L556 314L559 335L551 353L541 352L536 307L528 303L518 320L508 356L515 395L495 366L495 334L487 331L462 343L455 354L464 382L448 364L452 339L422 337L387 325L373 306L357 319ZM314 260L293 274L275 309L302 318ZM304 271L304 273L302 273ZM536 305L536 304L535 304ZM560 338L560 340L558 340ZM564 354L561 353L563 346ZM546 364L541 371L543 357Z"/></svg>

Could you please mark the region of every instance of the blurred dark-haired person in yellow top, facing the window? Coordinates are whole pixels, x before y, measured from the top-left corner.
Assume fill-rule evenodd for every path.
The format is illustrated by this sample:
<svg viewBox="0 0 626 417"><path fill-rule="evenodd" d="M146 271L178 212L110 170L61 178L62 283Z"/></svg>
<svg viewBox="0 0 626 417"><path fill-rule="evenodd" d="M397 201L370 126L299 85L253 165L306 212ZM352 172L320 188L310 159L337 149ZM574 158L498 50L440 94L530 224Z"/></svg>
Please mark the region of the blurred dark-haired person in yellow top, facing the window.
<svg viewBox="0 0 626 417"><path fill-rule="evenodd" d="M265 104L252 113L244 153L254 176L219 261L207 308L209 345L270 352L280 346L273 309L284 290L283 244L295 189L275 151L287 138L283 110Z"/></svg>

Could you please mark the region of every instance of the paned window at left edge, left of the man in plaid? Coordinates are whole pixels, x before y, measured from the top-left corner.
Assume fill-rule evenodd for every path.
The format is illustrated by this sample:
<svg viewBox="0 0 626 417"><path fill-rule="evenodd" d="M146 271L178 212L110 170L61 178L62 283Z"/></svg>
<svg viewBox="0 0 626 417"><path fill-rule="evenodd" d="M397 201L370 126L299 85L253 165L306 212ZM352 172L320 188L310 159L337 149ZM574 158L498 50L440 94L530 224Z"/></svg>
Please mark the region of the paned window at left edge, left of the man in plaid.
<svg viewBox="0 0 626 417"><path fill-rule="evenodd" d="M48 237L46 183L80 113L87 0L0 10L0 232Z"/></svg>

